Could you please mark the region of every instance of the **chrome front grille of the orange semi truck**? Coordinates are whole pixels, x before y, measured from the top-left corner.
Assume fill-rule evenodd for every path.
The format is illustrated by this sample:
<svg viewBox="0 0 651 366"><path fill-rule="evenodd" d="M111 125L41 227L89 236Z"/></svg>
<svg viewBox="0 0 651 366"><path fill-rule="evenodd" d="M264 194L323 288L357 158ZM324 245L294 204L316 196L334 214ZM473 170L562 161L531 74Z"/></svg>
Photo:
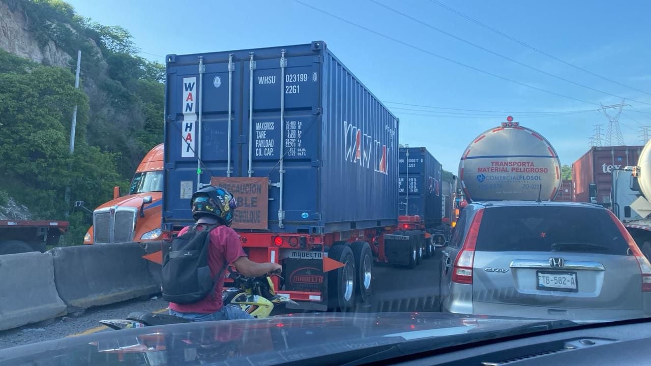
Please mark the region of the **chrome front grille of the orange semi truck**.
<svg viewBox="0 0 651 366"><path fill-rule="evenodd" d="M93 236L96 244L122 243L133 240L135 210L95 212L93 215Z"/></svg>

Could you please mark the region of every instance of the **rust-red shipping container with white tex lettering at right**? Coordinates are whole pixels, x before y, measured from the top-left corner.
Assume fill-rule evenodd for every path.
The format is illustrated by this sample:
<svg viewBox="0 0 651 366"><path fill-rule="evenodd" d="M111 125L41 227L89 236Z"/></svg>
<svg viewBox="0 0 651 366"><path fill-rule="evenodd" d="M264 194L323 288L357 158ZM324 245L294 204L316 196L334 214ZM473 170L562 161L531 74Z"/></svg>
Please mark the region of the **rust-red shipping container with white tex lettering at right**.
<svg viewBox="0 0 651 366"><path fill-rule="evenodd" d="M610 204L613 169L637 164L643 146L592 147L572 164L574 202L589 202L588 185L597 184L597 203Z"/></svg>

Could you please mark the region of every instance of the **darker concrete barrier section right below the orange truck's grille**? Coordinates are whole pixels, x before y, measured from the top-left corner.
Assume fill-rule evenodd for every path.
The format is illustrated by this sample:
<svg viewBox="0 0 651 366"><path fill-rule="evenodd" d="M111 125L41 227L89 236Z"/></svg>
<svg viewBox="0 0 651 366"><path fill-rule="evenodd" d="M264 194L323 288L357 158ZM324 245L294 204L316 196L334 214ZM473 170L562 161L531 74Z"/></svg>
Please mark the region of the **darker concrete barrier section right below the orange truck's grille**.
<svg viewBox="0 0 651 366"><path fill-rule="evenodd" d="M160 291L138 243L57 247L49 252L57 291L69 312Z"/></svg>

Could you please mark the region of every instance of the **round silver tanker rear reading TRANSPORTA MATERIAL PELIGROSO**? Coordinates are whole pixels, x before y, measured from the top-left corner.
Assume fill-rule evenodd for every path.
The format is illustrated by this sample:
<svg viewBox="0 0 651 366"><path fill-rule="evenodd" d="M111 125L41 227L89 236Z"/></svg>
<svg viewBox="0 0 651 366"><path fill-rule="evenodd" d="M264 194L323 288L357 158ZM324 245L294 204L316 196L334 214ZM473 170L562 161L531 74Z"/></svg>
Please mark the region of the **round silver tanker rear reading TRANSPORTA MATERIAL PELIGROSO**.
<svg viewBox="0 0 651 366"><path fill-rule="evenodd" d="M554 199L561 162L549 141L509 122L478 135L459 164L464 193L472 201Z"/></svg>

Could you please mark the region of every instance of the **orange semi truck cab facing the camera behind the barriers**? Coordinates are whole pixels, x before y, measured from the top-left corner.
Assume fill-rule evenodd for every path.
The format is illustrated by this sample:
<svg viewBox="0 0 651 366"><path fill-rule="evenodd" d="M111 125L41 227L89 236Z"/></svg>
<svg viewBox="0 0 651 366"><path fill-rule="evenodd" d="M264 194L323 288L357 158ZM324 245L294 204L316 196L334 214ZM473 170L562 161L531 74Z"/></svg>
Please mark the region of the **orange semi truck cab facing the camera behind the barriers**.
<svg viewBox="0 0 651 366"><path fill-rule="evenodd" d="M120 197L113 188L113 199L92 213L92 226L84 244L148 242L161 235L163 197L163 144L152 148L133 175L129 193Z"/></svg>

